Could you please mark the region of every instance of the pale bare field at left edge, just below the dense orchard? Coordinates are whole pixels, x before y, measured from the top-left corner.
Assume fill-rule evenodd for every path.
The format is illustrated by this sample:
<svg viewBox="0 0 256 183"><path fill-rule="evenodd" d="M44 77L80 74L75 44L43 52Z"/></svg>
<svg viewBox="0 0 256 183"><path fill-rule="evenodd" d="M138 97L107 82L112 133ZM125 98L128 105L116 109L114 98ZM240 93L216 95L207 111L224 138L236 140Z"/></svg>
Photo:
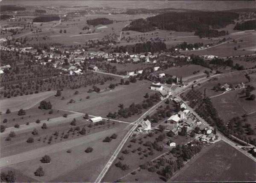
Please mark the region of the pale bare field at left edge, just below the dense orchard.
<svg viewBox="0 0 256 183"><path fill-rule="evenodd" d="M2 99L0 101L0 111L5 113L6 109L10 109L11 112L16 112L20 109L29 109L54 94L56 94L55 91L49 91L40 94L23 95L15 98Z"/></svg>

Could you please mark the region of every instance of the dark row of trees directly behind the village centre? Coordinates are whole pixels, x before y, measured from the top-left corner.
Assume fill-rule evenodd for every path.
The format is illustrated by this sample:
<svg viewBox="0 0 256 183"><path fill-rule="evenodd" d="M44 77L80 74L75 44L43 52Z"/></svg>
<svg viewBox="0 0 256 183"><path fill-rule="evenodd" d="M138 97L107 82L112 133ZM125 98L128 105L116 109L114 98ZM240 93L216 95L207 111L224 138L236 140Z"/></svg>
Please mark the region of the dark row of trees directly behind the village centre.
<svg viewBox="0 0 256 183"><path fill-rule="evenodd" d="M126 45L126 46L116 46L114 52L132 52L132 53L141 53L141 52L151 52L155 53L157 51L165 51L166 44L163 42L151 42L147 41L146 43L137 43L135 45Z"/></svg>

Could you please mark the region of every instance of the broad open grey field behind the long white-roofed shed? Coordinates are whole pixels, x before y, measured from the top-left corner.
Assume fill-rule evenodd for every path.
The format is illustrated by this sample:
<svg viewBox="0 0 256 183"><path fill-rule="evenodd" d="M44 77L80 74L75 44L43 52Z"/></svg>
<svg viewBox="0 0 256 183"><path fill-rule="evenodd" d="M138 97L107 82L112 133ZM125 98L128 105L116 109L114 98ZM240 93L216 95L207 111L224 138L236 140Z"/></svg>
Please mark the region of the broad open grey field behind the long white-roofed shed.
<svg viewBox="0 0 256 183"><path fill-rule="evenodd" d="M119 83L120 80L112 81L111 83ZM124 107L130 106L132 103L141 103L145 98L145 93L149 95L154 94L155 91L148 89L151 82L146 80L137 80L137 83L130 83L130 85L119 85L115 89L108 89L109 85L97 85L102 92L88 93L91 87L77 89L79 94L74 94L74 90L66 90L63 92L64 100L60 98L50 97L47 100L51 101L54 109L64 109L75 112L88 113L94 116L106 117L109 112L117 112L120 103ZM89 96L90 98L86 98ZM70 99L76 103L68 103ZM121 119L128 122L133 122L139 115L131 116L127 119ZM118 120L118 119L116 119Z"/></svg>

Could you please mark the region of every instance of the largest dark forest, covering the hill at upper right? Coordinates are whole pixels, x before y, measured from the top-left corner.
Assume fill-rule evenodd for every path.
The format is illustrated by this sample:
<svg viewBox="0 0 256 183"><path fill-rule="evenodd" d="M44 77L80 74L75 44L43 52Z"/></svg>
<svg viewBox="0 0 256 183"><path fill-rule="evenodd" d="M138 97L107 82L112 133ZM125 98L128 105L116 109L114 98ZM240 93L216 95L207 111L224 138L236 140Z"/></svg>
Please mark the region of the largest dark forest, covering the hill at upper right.
<svg viewBox="0 0 256 183"><path fill-rule="evenodd" d="M189 11L189 12L167 12L159 14L154 17L148 17L143 23L143 29L138 23L138 20L131 22L130 27L124 30L140 30L151 31L154 27L162 30L173 31L198 31L224 28L227 25L234 23L233 20L237 19L239 14L233 12L223 11Z"/></svg>

